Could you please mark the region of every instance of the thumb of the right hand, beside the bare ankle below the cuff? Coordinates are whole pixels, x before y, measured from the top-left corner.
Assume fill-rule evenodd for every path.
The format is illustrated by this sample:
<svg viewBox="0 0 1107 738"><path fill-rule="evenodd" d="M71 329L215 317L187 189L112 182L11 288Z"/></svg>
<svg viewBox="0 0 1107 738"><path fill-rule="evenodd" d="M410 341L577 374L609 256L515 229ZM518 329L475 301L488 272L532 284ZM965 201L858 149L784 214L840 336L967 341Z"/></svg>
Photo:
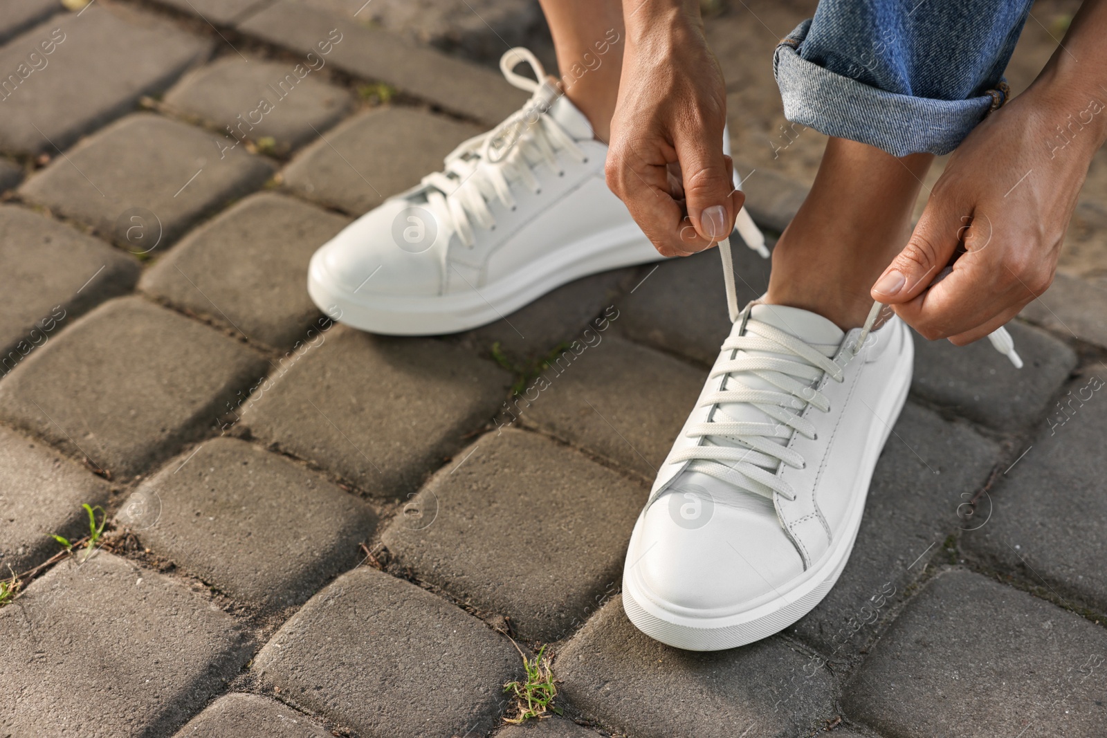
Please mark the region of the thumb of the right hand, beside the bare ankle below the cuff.
<svg viewBox="0 0 1107 738"><path fill-rule="evenodd" d="M963 218L949 201L931 199L911 238L872 285L872 299L886 305L909 302L922 294L945 269L958 248Z"/></svg>

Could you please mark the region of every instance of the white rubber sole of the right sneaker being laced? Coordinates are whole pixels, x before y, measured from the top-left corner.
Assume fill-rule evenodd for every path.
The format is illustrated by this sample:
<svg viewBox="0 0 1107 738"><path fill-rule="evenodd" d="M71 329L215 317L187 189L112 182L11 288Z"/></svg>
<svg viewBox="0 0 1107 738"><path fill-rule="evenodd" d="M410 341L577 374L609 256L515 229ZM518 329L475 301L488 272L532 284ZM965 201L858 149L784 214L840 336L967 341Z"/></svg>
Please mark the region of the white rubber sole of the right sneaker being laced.
<svg viewBox="0 0 1107 738"><path fill-rule="evenodd" d="M909 354L909 361L913 363L914 346L910 336L906 336L906 341L904 351ZM668 610L660 597L650 596L637 581L631 571L631 562L628 560L623 570L622 599L623 611L630 622L651 638L670 646L685 651L722 651L744 646L779 633L809 613L830 592L842 569L846 568L849 554L853 550L853 542L857 540L857 531L861 527L861 516L865 513L865 501L868 498L877 458L903 409L910 386L909 371L903 376L897 377L897 384L890 387L884 394L883 402L875 408L883 423L873 423L869 432L870 443L861 460L863 478L859 480L863 490L855 497L845 521L849 536L835 541L818 564L804 572L790 586L776 590L779 596L758 607L723 617L696 617L679 615ZM635 524L635 531L640 524L641 518Z"/></svg>

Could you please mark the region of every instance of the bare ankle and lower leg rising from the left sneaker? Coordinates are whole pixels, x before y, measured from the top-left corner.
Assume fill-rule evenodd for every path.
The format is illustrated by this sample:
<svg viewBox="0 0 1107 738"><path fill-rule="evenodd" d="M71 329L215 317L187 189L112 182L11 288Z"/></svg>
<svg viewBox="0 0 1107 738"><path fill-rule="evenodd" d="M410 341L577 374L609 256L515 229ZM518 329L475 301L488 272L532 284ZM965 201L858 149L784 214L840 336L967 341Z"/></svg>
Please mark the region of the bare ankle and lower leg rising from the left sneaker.
<svg viewBox="0 0 1107 738"><path fill-rule="evenodd" d="M541 0L541 7L554 35L566 95L588 116L596 137L607 142L611 137L611 116L619 95L627 35L622 2Z"/></svg>

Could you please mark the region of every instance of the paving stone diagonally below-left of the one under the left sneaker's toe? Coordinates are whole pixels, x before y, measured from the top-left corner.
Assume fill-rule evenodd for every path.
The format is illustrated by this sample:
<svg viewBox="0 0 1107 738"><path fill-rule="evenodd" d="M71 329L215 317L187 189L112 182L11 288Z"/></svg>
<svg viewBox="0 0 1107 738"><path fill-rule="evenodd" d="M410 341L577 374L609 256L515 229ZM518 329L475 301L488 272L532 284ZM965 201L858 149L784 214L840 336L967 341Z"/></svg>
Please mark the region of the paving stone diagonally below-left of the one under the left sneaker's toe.
<svg viewBox="0 0 1107 738"><path fill-rule="evenodd" d="M216 438L144 481L118 521L184 571L271 610L300 604L356 565L376 514L282 456Z"/></svg>

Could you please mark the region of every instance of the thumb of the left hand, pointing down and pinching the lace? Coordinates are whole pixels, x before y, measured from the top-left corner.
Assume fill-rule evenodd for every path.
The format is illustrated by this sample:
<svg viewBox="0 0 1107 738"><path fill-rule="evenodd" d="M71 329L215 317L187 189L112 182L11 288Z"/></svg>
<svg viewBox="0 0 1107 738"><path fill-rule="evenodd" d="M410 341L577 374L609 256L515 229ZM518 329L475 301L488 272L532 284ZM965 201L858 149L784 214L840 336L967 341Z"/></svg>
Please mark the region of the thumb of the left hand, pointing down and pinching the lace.
<svg viewBox="0 0 1107 738"><path fill-rule="evenodd" d="M723 134L687 136L676 145L684 181L684 202L696 235L713 243L731 235L742 207L735 193L731 157L723 154ZM718 141L717 146L707 142ZM735 195L737 196L735 198Z"/></svg>

